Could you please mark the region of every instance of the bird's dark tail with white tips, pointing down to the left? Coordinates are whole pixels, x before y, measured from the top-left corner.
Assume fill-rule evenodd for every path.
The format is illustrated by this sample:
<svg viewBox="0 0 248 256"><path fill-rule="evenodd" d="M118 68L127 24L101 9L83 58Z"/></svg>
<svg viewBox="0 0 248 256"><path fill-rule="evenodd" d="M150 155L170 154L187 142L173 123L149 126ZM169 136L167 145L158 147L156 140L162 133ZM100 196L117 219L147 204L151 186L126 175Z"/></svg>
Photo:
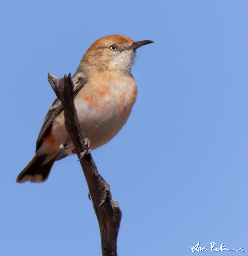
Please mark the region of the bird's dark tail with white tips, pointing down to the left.
<svg viewBox="0 0 248 256"><path fill-rule="evenodd" d="M47 180L51 167L56 161L59 154L54 153L46 155L38 155L37 153L24 167L22 172L16 178L17 183L24 183L31 181L34 183L41 183ZM48 159L48 160L47 160Z"/></svg>

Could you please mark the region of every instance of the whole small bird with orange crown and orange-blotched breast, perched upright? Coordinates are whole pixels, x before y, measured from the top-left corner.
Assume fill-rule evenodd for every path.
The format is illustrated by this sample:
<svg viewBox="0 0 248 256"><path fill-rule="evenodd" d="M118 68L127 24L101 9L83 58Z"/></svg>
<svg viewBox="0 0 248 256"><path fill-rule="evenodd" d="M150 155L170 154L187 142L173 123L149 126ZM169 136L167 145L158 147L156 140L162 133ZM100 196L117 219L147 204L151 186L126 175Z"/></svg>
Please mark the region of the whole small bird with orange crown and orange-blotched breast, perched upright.
<svg viewBox="0 0 248 256"><path fill-rule="evenodd" d="M106 35L97 39L81 59L72 76L74 103L92 150L108 143L126 124L137 97L131 74L136 49L150 43L153 41ZM75 153L63 113L56 98L43 121L35 155L17 176L17 183L45 182L55 161Z"/></svg>

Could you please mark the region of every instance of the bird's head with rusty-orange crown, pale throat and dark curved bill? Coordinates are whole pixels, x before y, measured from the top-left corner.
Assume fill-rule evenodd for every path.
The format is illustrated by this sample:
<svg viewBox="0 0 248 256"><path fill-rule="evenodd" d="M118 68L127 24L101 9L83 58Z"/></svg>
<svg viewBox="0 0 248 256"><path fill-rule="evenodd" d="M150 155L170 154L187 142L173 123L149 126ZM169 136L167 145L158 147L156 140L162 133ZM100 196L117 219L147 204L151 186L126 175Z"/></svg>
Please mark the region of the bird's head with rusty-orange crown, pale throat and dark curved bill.
<svg viewBox="0 0 248 256"><path fill-rule="evenodd" d="M135 50L150 43L153 41L134 42L133 39L125 35L106 35L89 47L81 60L81 64L96 70L109 69L130 74Z"/></svg>

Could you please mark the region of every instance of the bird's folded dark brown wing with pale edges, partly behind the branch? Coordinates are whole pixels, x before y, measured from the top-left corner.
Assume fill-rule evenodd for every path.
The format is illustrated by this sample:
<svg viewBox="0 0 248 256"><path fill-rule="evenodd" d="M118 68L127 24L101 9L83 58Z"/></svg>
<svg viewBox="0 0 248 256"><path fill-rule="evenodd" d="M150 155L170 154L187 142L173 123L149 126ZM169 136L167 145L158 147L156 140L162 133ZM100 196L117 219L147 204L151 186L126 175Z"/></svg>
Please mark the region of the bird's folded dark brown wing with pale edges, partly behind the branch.
<svg viewBox="0 0 248 256"><path fill-rule="evenodd" d="M75 98L75 96L79 93L79 91L83 88L83 86L87 82L87 79L85 76L82 76L81 74L78 75L76 73L72 76L72 82L74 85L74 98ZM48 110L45 120L43 121L43 124L41 126L41 130L39 131L35 152L37 152L37 150L41 146L43 138L45 138L46 135L49 133L54 119L58 117L62 111L63 111L62 104L60 100L56 98L52 103L50 109Z"/></svg>

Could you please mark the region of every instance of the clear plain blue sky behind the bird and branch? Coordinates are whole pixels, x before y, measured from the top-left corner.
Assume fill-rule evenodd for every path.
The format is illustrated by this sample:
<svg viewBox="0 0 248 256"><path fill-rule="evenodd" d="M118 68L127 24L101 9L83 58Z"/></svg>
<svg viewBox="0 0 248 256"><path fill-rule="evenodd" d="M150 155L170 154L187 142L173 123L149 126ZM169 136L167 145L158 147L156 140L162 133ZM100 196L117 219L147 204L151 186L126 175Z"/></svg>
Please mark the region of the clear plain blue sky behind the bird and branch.
<svg viewBox="0 0 248 256"><path fill-rule="evenodd" d="M77 157L43 184L16 184L56 97L98 38L128 35L138 98L92 152L122 210L118 255L248 251L248 1L1 1L0 255L101 255Z"/></svg>

